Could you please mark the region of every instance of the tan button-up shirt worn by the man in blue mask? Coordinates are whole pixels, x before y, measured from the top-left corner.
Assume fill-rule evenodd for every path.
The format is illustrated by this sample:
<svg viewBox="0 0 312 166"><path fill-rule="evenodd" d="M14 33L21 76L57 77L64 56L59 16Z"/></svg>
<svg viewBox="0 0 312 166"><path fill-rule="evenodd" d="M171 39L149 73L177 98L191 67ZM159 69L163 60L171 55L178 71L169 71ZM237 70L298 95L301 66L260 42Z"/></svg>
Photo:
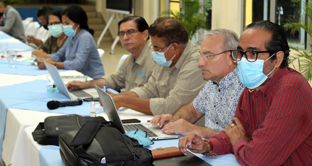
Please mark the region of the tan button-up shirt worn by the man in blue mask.
<svg viewBox="0 0 312 166"><path fill-rule="evenodd" d="M134 88L140 98L150 98L153 115L173 114L193 101L206 81L198 67L199 46L188 41L178 62L171 68L156 65L151 78L141 88Z"/></svg>

